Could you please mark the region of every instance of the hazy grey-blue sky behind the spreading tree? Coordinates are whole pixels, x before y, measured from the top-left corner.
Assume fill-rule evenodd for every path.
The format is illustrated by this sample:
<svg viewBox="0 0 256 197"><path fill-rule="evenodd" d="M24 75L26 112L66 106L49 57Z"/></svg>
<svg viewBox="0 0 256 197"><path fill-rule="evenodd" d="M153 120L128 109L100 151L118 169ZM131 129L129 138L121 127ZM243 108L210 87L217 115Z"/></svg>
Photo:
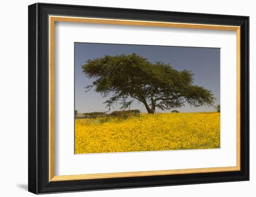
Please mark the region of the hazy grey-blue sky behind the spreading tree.
<svg viewBox="0 0 256 197"><path fill-rule="evenodd" d="M148 58L148 61L155 63L162 61L176 70L191 70L194 73L194 84L210 89L216 97L216 104L220 104L220 48L204 47L177 47L177 46L155 46L135 44L96 44L96 43L74 43L74 77L75 77L75 109L80 113L107 111L105 102L100 93L91 89L85 92L87 85L92 84L93 79L88 79L83 73L81 66L86 64L88 59L104 57L105 55L115 56L119 54L131 54ZM117 104L111 111L120 110ZM139 109L146 112L143 104L134 102L131 109ZM175 108L180 112L203 112L215 111L214 107L190 107L185 105L182 108ZM173 110L173 109L172 109ZM162 112L156 109L156 112ZM168 112L168 111L166 111Z"/></svg>

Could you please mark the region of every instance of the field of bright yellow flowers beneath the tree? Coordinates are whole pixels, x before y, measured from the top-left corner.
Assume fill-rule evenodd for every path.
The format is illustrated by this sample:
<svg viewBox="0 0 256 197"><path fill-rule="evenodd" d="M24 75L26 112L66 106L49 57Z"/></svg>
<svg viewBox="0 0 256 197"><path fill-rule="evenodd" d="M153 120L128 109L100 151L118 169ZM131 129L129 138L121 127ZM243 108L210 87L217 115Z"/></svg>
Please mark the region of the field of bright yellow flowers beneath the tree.
<svg viewBox="0 0 256 197"><path fill-rule="evenodd" d="M75 153L220 148L220 113L75 120Z"/></svg>

